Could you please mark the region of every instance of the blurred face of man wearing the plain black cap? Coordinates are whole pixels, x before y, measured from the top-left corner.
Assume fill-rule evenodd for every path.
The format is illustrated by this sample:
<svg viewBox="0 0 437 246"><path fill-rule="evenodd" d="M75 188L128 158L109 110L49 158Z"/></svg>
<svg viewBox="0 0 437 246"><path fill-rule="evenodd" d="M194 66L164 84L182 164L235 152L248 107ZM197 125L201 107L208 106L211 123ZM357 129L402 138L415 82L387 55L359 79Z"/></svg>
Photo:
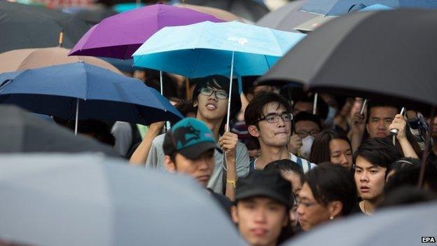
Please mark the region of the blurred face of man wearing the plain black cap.
<svg viewBox="0 0 437 246"><path fill-rule="evenodd" d="M233 221L250 245L276 245L282 228L289 220L289 210L270 198L254 197L239 200L232 207Z"/></svg>

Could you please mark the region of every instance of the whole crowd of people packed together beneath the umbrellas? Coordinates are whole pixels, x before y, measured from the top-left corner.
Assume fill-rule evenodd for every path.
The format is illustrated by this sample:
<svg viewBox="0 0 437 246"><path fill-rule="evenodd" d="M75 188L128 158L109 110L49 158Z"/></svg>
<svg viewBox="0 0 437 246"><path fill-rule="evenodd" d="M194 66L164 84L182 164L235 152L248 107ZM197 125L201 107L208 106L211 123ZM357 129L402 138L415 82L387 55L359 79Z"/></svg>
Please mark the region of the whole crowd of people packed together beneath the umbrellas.
<svg viewBox="0 0 437 246"><path fill-rule="evenodd" d="M314 105L303 90L256 83L238 95L219 75L188 86L191 100L175 102L186 118L171 128L153 123L143 137L132 137L141 135L136 125L120 131L116 123L113 144L131 146L120 152L131 165L193 177L250 245L279 245L351 214L436 198L437 129L425 146L437 118L381 102L361 109L363 99L353 97L319 95Z"/></svg>

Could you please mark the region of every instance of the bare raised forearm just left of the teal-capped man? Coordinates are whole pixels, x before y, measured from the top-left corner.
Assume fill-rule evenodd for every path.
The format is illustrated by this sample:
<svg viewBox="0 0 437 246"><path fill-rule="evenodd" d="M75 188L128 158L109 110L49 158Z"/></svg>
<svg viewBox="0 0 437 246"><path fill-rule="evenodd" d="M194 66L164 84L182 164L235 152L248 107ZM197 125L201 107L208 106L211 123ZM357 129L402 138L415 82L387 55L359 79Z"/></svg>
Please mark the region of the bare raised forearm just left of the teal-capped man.
<svg viewBox="0 0 437 246"><path fill-rule="evenodd" d="M129 160L131 165L143 165L146 163L148 152L151 149L153 139L158 136L164 126L165 121L155 122L150 125L144 139L139 144L138 148L135 149L134 153Z"/></svg>

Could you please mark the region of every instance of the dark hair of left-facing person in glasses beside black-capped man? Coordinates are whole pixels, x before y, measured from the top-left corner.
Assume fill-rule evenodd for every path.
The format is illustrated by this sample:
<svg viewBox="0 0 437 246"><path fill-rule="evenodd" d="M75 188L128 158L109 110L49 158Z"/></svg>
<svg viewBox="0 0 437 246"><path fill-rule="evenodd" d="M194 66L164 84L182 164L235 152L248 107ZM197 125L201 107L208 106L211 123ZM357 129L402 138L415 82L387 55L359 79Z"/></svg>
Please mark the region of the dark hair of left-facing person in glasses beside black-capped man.
<svg viewBox="0 0 437 246"><path fill-rule="evenodd" d="M326 206L338 200L342 203L342 215L351 212L356 203L356 186L352 174L340 165L321 163L305 174L314 198Z"/></svg>

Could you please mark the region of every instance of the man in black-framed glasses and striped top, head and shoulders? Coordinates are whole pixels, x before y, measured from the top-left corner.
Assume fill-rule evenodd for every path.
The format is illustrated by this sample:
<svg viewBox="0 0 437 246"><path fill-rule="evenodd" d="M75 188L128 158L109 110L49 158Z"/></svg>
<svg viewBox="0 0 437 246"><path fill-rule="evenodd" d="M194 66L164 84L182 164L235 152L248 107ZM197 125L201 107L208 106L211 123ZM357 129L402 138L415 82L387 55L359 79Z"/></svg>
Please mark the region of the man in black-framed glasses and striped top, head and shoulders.
<svg viewBox="0 0 437 246"><path fill-rule="evenodd" d="M268 163L282 159L293 160L304 172L316 166L287 149L293 121L290 111L290 103L275 93L263 93L251 100L244 112L244 121L249 134L258 139L261 156L251 161L249 172L263 170Z"/></svg>

